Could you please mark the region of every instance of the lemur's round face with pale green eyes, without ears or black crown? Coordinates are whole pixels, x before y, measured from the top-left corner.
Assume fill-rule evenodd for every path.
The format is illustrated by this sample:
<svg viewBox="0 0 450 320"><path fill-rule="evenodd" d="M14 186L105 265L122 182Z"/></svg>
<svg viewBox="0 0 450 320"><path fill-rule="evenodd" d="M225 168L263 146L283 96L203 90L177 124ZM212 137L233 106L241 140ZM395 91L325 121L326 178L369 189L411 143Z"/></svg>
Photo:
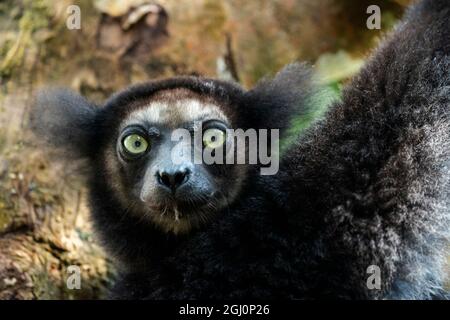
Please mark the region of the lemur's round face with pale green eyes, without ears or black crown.
<svg viewBox="0 0 450 320"><path fill-rule="evenodd" d="M245 166L206 164L195 156L205 148L232 151L226 130L233 121L217 102L173 89L127 107L104 163L110 185L130 214L165 231L185 233L233 201Z"/></svg>

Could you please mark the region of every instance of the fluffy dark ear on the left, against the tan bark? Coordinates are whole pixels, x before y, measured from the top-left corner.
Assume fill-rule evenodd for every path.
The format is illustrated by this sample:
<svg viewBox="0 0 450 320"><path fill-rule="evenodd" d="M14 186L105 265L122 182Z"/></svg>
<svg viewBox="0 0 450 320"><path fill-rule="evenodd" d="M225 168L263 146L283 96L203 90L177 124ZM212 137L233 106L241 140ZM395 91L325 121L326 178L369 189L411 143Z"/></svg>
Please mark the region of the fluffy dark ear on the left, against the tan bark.
<svg viewBox="0 0 450 320"><path fill-rule="evenodd" d="M89 154L97 108L67 89L40 90L31 110L31 129L48 145L71 157Z"/></svg>

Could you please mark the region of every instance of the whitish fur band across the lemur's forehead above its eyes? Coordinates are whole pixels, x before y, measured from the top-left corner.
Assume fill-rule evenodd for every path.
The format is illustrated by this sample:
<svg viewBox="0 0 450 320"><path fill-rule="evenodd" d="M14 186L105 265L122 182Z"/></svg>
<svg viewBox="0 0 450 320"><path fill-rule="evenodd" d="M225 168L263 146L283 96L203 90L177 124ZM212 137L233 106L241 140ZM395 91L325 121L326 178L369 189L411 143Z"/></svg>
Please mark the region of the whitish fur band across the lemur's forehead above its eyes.
<svg viewBox="0 0 450 320"><path fill-rule="evenodd" d="M123 127L149 122L176 128L180 124L202 119L228 122L228 118L217 105L196 99L180 99L175 102L151 102L147 107L132 112L124 121Z"/></svg>

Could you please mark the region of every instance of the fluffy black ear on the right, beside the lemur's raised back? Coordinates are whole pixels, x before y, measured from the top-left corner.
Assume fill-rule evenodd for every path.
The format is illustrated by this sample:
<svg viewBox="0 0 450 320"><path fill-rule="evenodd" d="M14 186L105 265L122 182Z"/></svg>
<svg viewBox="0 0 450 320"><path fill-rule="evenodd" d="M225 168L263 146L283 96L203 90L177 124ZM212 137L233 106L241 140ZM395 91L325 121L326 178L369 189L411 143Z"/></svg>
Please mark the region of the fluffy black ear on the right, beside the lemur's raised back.
<svg viewBox="0 0 450 320"><path fill-rule="evenodd" d="M273 79L262 80L245 94L244 119L253 119L255 129L280 129L283 133L293 117L310 112L308 100L314 94L311 78L306 64L293 63Z"/></svg>

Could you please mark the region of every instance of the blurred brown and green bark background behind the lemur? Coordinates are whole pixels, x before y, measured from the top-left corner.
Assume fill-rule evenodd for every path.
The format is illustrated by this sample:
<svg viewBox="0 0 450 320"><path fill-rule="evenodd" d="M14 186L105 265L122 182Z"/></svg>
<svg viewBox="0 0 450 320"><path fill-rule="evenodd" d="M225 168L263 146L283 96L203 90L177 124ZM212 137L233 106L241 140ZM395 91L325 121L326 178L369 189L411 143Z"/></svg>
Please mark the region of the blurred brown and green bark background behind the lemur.
<svg viewBox="0 0 450 320"><path fill-rule="evenodd" d="M78 174L49 161L27 130L33 92L71 87L101 103L132 83L178 74L249 88L292 61L324 87L320 117L409 0L0 1L0 298L98 298L113 275L95 243ZM70 5L81 29L69 30ZM369 5L381 30L366 27ZM76 264L88 285L68 291Z"/></svg>

